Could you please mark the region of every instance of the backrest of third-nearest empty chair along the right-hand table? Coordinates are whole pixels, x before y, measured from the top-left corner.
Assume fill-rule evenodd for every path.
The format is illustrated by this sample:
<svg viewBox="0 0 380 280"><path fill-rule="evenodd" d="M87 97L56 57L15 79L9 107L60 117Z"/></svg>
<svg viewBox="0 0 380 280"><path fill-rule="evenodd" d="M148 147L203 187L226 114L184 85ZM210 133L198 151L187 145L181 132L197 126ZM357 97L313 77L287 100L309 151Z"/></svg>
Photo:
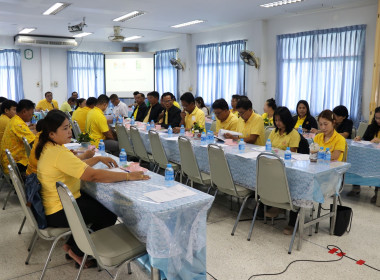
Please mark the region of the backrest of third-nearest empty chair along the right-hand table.
<svg viewBox="0 0 380 280"><path fill-rule="evenodd" d="M202 175L199 171L198 162L195 158L193 146L188 138L185 136L178 137L178 148L179 156L181 159L181 170L185 173L191 180L201 182Z"/></svg>

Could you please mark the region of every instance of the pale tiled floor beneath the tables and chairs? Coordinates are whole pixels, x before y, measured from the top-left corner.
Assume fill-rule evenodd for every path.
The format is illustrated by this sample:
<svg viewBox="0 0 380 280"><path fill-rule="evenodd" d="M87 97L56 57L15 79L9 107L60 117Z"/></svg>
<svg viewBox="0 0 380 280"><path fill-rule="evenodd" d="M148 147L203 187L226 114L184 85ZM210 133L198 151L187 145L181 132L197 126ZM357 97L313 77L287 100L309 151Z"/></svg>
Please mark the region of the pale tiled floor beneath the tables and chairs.
<svg viewBox="0 0 380 280"><path fill-rule="evenodd" d="M339 246L351 258L363 259L368 265L380 269L380 208L369 202L373 188L362 188L359 198L347 197L349 189L350 186L346 186L342 198L344 204L354 211L351 232L342 237L330 236L325 221L320 232L311 237L306 234L302 250L294 248L291 255L287 253L290 237L282 234L284 220L276 221L274 226L257 221L250 242L246 240L250 221L240 222L235 236L231 236L237 205L234 204L234 210L230 211L228 198L218 196L208 220L207 271L212 276L208 275L207 279L248 279L253 274L281 272L293 260L338 259L328 253L326 246L329 244ZM1 206L5 193L4 190L0 192ZM252 210L247 210L242 219L251 215ZM17 197L12 195L6 210L0 210L0 279L39 279L47 257L51 243L39 241L30 264L24 264L32 230L26 224L22 234L17 234L22 217ZM75 279L77 270L72 261L65 260L61 245L53 255L45 279ZM132 264L132 271L132 275L128 275L126 269L123 270L119 279L150 279L137 263ZM110 278L105 271L89 269L83 272L81 279ZM343 258L333 263L299 262L284 274L252 279L380 279L380 272Z"/></svg>

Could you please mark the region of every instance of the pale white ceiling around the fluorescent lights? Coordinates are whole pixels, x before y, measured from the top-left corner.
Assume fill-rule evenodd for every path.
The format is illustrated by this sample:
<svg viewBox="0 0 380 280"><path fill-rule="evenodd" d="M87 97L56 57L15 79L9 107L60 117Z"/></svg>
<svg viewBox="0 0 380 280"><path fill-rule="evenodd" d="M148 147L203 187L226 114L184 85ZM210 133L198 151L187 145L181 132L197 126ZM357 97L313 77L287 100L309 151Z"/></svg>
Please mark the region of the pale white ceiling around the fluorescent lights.
<svg viewBox="0 0 380 280"><path fill-rule="evenodd" d="M0 0L0 36L14 36L24 27L35 27L30 34L71 36L68 25L78 24L86 17L84 31L93 32L87 41L108 41L113 26L120 25L125 37L140 35L143 38L131 43L146 43L183 33L198 33L249 20L270 19L278 16L314 13L376 4L377 0L304 0L296 4L275 8L262 8L261 4L274 0L64 0L72 3L57 15L42 13L56 0ZM126 22L113 22L114 18L140 10L145 15ZM195 20L205 23L174 29L171 25Z"/></svg>

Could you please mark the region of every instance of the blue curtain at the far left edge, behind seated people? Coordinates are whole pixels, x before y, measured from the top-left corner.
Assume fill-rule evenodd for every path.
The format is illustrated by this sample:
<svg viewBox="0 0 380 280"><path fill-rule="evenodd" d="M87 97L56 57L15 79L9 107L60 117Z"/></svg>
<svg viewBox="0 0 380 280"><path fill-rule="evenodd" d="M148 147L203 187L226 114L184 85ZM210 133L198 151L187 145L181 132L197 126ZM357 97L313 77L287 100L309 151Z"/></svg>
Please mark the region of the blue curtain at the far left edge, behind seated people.
<svg viewBox="0 0 380 280"><path fill-rule="evenodd" d="M0 50L0 95L16 102L24 98L20 50Z"/></svg>

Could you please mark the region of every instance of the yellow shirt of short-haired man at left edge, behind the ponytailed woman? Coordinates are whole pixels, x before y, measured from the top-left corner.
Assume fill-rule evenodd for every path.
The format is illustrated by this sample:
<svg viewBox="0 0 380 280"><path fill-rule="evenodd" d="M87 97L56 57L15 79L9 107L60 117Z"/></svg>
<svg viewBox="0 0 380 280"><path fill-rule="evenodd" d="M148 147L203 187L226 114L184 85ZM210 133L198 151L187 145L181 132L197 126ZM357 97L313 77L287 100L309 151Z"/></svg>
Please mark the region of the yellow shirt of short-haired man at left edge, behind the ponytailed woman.
<svg viewBox="0 0 380 280"><path fill-rule="evenodd" d="M1 140L1 164L6 174L9 173L9 162L5 149L8 149L11 152L16 163L21 163L25 166L28 165L28 158L26 156L24 143L22 142L22 137L25 137L29 144L36 138L26 123L18 115L15 115L5 128L4 136Z"/></svg>

